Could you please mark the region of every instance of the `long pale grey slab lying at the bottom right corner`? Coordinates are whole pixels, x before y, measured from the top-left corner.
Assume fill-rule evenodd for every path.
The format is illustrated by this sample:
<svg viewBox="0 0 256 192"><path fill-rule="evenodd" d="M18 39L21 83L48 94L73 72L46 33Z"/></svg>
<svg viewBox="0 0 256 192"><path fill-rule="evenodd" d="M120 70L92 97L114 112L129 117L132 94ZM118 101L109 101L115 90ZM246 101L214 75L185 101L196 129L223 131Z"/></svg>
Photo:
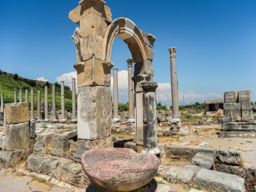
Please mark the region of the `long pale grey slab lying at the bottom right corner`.
<svg viewBox="0 0 256 192"><path fill-rule="evenodd" d="M220 191L244 192L244 178L228 173L201 169L193 183L203 188L214 188Z"/></svg>

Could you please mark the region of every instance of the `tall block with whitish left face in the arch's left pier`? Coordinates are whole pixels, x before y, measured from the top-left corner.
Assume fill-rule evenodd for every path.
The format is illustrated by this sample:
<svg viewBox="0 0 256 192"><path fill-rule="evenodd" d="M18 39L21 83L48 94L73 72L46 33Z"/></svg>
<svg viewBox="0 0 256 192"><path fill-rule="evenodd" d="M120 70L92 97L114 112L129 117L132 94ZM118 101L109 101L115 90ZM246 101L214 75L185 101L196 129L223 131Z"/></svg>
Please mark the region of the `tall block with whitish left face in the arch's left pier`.
<svg viewBox="0 0 256 192"><path fill-rule="evenodd" d="M102 139L112 127L111 91L107 86L78 88L78 139ZM83 113L82 113L82 112Z"/></svg>

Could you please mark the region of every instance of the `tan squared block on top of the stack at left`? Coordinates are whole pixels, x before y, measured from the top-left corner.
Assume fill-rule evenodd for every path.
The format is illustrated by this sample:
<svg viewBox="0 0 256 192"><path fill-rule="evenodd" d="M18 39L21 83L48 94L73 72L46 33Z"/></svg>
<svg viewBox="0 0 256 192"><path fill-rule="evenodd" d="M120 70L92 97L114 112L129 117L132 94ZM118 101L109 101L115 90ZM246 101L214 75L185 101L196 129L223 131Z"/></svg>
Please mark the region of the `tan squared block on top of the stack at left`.
<svg viewBox="0 0 256 192"><path fill-rule="evenodd" d="M28 102L21 103L7 103L5 106L4 121L7 124L18 124L29 121Z"/></svg>

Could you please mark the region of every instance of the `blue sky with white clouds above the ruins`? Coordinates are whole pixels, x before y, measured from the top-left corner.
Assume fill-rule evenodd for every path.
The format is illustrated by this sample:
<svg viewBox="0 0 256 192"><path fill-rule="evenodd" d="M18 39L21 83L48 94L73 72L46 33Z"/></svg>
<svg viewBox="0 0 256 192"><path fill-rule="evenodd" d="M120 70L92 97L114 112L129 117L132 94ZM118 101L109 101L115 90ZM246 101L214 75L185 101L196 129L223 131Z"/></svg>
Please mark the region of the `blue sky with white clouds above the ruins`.
<svg viewBox="0 0 256 192"><path fill-rule="evenodd" d="M74 72L76 27L68 13L79 1L1 1L0 68L25 78L56 82ZM177 48L180 100L185 104L223 98L225 91L252 90L256 101L256 1L106 1L112 19L125 17L156 37L154 80L157 101L171 103L169 47ZM116 38L111 61L121 72L131 58ZM113 74L113 70L111 71ZM126 81L125 72L119 74ZM61 76L62 75L62 76ZM74 76L74 73L72 73ZM71 77L71 76L70 76ZM65 80L68 84L68 79ZM119 83L119 101L128 101Z"/></svg>

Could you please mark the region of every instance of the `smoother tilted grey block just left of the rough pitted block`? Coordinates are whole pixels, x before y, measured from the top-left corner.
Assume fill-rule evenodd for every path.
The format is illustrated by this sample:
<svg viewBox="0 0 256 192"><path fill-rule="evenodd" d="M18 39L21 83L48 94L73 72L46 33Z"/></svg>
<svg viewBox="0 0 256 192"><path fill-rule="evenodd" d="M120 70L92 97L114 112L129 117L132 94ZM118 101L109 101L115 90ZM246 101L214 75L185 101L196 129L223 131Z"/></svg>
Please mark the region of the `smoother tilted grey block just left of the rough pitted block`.
<svg viewBox="0 0 256 192"><path fill-rule="evenodd" d="M197 153L196 156L194 156L191 159L191 165L197 165L204 169L212 169L213 164L214 164L214 158L212 154L208 154L208 153Z"/></svg>

